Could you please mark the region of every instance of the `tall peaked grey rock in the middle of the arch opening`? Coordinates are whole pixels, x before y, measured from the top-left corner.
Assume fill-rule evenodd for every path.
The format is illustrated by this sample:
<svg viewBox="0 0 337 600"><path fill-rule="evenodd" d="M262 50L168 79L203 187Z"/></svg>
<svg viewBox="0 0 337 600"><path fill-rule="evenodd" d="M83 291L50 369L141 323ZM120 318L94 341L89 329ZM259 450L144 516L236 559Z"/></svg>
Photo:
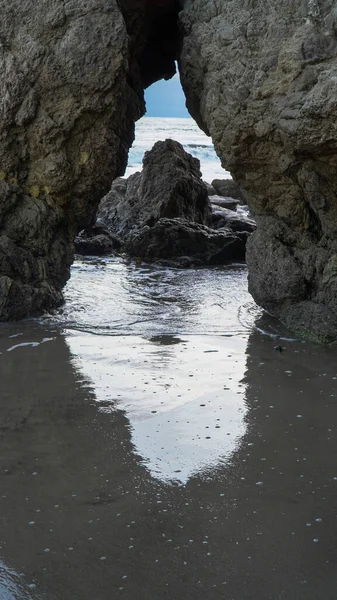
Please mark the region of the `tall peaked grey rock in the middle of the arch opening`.
<svg viewBox="0 0 337 600"><path fill-rule="evenodd" d="M173 140L157 142L145 153L141 173L115 181L97 212L98 222L123 239L163 217L211 221L200 163Z"/></svg>

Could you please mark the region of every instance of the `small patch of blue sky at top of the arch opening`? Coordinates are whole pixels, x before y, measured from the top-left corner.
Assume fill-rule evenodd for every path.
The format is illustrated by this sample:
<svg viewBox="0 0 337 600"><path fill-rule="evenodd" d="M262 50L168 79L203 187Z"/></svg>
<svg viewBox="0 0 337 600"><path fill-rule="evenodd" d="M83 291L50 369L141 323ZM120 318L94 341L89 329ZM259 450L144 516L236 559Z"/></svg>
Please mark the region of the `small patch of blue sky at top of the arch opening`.
<svg viewBox="0 0 337 600"><path fill-rule="evenodd" d="M147 117L189 117L179 75L161 79L145 90Z"/></svg>

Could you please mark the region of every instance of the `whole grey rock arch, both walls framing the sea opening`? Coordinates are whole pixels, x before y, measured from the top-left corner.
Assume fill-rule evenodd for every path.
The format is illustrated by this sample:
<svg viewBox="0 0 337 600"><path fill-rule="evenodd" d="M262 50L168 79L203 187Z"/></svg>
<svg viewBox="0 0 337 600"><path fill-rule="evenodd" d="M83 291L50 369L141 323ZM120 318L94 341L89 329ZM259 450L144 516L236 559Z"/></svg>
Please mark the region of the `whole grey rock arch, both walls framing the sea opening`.
<svg viewBox="0 0 337 600"><path fill-rule="evenodd" d="M253 296L305 335L337 338L334 0L5 0L2 10L0 319L61 301L76 227L124 170L144 87L178 57L189 111L258 220Z"/></svg>

